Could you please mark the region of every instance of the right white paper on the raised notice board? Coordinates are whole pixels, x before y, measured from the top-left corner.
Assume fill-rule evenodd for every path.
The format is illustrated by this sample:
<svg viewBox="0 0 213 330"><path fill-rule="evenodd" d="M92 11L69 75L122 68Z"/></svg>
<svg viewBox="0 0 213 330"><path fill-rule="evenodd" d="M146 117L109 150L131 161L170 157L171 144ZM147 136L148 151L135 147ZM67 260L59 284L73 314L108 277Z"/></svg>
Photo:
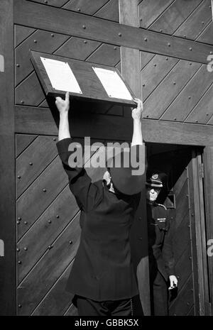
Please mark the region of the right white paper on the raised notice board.
<svg viewBox="0 0 213 330"><path fill-rule="evenodd" d="M109 97L115 97L116 99L132 99L129 90L116 71L102 69L101 67L92 67L92 69L99 77Z"/></svg>

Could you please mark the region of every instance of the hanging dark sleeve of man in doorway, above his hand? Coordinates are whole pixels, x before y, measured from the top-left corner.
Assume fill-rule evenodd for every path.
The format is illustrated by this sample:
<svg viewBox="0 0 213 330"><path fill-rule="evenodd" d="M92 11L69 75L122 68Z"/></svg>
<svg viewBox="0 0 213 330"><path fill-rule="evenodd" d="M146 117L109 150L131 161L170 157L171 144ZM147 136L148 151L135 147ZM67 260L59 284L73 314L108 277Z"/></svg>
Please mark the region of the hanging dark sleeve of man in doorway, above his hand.
<svg viewBox="0 0 213 330"><path fill-rule="evenodd" d="M162 256L165 263L165 270L170 275L175 275L175 258L173 253L173 229L171 226L165 232L163 241Z"/></svg>

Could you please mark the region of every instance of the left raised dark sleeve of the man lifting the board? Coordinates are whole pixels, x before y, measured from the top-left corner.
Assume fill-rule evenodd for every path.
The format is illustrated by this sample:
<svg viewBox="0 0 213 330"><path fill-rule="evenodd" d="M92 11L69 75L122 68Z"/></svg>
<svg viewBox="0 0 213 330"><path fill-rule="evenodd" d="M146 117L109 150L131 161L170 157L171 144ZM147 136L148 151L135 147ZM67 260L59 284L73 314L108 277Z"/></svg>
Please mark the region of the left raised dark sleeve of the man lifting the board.
<svg viewBox="0 0 213 330"><path fill-rule="evenodd" d="M100 189L99 185L92 183L84 167L70 166L69 157L74 153L73 151L69 151L69 145L72 142L72 138L64 138L58 141L56 143L58 155L67 173L69 187L75 196L78 206L84 211L90 211L102 198L102 189Z"/></svg>

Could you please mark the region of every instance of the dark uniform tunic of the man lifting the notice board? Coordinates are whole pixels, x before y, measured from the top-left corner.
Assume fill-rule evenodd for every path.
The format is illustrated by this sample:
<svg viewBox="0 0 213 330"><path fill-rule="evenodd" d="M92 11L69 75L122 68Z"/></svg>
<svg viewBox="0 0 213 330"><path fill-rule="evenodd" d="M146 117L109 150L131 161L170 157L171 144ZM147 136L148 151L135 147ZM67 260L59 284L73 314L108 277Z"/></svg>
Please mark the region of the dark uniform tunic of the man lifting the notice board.
<svg viewBox="0 0 213 330"><path fill-rule="evenodd" d="M92 183L82 167L70 167L72 138L58 141L58 153L69 187L81 209L80 246L67 290L96 301L138 295L131 263L129 231L140 194L114 194L102 180Z"/></svg>

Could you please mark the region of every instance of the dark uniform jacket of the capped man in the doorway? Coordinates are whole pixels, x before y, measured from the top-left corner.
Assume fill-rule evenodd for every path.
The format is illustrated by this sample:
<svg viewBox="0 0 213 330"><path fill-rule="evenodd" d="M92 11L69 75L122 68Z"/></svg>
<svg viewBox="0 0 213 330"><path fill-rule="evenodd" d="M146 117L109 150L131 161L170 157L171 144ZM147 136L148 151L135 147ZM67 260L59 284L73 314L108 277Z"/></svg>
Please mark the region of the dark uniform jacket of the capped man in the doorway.
<svg viewBox="0 0 213 330"><path fill-rule="evenodd" d="M167 209L158 203L147 204L147 214L150 270L153 273L158 268L165 280L168 280L168 276L175 275L175 260Z"/></svg>

